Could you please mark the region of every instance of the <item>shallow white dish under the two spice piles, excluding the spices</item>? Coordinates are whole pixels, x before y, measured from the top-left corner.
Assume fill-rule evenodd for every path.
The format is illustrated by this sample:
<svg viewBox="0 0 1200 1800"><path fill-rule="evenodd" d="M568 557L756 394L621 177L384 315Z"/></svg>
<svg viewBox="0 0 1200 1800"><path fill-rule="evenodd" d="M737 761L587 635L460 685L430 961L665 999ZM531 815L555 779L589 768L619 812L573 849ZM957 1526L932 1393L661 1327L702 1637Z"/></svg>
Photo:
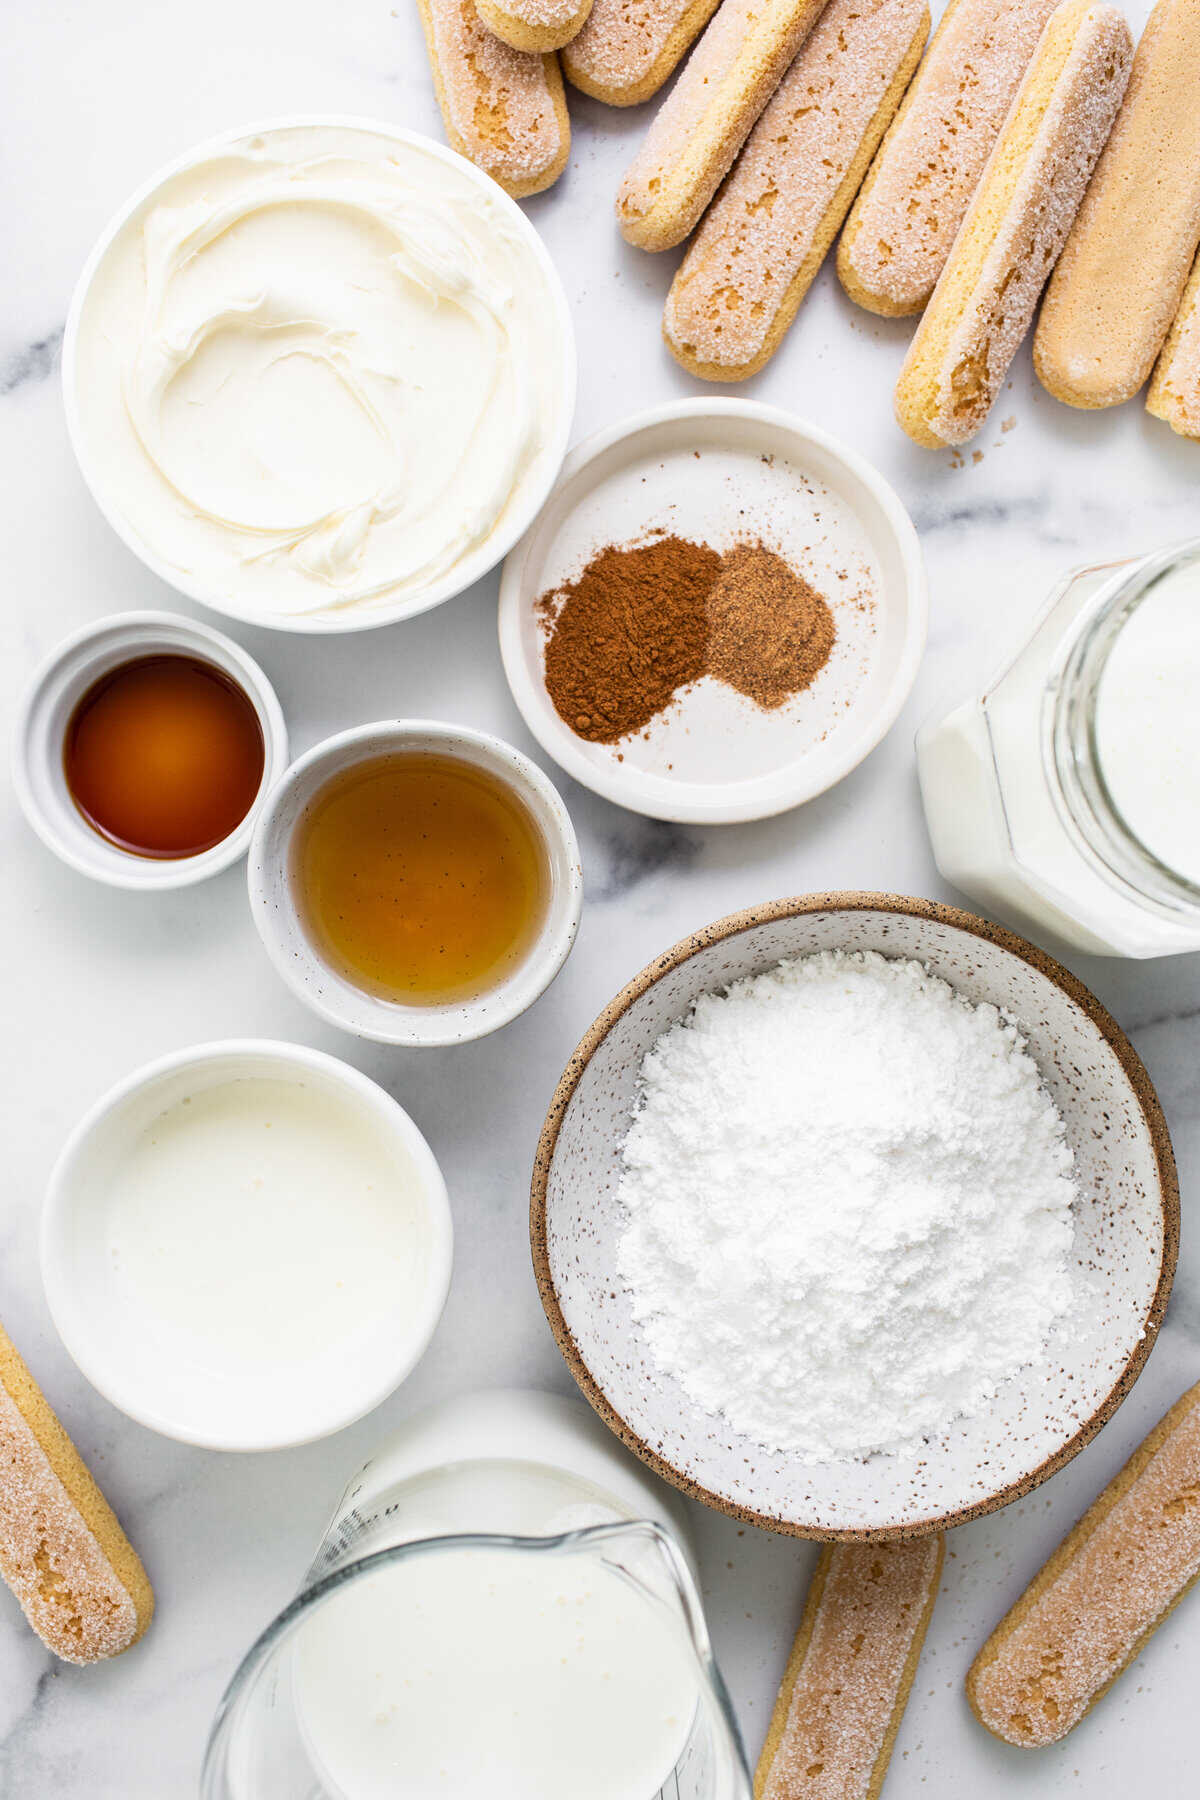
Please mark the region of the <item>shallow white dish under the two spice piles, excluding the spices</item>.
<svg viewBox="0 0 1200 1800"><path fill-rule="evenodd" d="M660 529L716 549L761 538L779 551L828 596L833 655L775 711L705 679L644 736L588 743L545 689L534 605L596 551ZM500 652L525 724L576 781L651 819L727 824L799 806L874 749L916 679L927 610L912 520L869 463L777 407L682 400L567 457L504 565Z"/></svg>

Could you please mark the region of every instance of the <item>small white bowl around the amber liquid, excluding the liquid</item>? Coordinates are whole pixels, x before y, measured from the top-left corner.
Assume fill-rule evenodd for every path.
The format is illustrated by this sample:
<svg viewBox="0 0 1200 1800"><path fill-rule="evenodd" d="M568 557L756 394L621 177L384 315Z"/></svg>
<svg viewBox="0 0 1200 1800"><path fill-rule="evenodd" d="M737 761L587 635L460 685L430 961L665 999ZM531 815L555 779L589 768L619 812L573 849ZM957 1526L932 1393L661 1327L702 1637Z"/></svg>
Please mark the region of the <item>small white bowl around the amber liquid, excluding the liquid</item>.
<svg viewBox="0 0 1200 1800"><path fill-rule="evenodd" d="M291 846L313 801L342 769L396 752L450 756L486 769L524 805L542 837L551 878L542 929L513 974L471 1001L403 1006L363 992L320 956L297 904ZM300 756L259 815L248 869L254 923L291 992L329 1024L378 1044L462 1044L516 1019L567 961L583 907L579 844L552 781L511 743L428 718L356 725Z"/></svg>

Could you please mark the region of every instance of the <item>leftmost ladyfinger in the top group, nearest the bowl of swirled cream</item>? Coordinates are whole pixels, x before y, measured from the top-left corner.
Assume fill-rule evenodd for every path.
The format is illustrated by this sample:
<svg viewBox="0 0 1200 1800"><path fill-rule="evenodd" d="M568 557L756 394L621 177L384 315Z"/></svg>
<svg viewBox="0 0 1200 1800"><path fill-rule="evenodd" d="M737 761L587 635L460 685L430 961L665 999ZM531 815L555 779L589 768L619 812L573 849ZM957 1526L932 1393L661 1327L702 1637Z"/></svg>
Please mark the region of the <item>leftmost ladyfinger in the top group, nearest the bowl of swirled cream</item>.
<svg viewBox="0 0 1200 1800"><path fill-rule="evenodd" d="M556 56L502 43L473 0L417 0L450 148L515 200L567 167L570 122Z"/></svg>

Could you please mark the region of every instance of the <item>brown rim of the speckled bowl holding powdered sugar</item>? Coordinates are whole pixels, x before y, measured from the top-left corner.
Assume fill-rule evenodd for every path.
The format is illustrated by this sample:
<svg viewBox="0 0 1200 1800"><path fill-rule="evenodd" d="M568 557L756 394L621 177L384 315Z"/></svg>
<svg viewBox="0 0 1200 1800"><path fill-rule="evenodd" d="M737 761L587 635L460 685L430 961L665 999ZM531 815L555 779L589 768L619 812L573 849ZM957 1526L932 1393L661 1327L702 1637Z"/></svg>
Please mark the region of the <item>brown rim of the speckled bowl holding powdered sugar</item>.
<svg viewBox="0 0 1200 1800"><path fill-rule="evenodd" d="M551 1163L554 1159L554 1148L558 1145L558 1134L567 1114L567 1107L574 1098L574 1093L583 1078L583 1071L592 1060L594 1051L608 1035L612 1026L621 1019L630 1006L642 997L660 976L666 976L671 968L678 968L682 963L691 961L700 950L709 949L714 943L721 943L727 938L736 938L756 925L765 925L779 918L799 918L808 913L896 913L907 914L909 918L930 920L939 925L950 925L957 931L968 932L973 938L982 938L986 943L993 943L1011 956L1016 956L1022 963L1027 963L1038 974L1052 981L1070 1001L1079 1006L1079 1010L1092 1021L1097 1028L1112 1053L1115 1055L1121 1069L1133 1089L1133 1098L1141 1107L1146 1129L1150 1132L1150 1141L1159 1170L1159 1199L1162 1204L1162 1260L1159 1264L1159 1282L1155 1285L1150 1309L1146 1312L1144 1330L1139 1341L1133 1345L1124 1368L1117 1375L1115 1382L1108 1390L1106 1397L1096 1408L1096 1411L1079 1426L1079 1429L1061 1444L1051 1456L1031 1469L1027 1474L1018 1476L1009 1481L1004 1489L990 1494L986 1499L972 1501L966 1507L955 1507L952 1512L936 1514L927 1519L918 1519L910 1525L885 1525L885 1526L829 1526L815 1530L813 1526L795 1525L788 1519L779 1519L772 1514L757 1512L752 1507L738 1505L732 1499L714 1494L711 1489L703 1487L700 1481L684 1474L664 1456L658 1454L615 1409L608 1395L601 1390L599 1382L592 1375L588 1364L585 1363L579 1346L576 1345L574 1334L563 1318L563 1310L558 1300L558 1289L554 1285L554 1274L551 1269L549 1240L547 1240L547 1186L551 1175ZM1016 936L1016 932L1006 931L1004 925L995 925L991 920L979 918L975 913L966 913L961 907L943 905L937 900L921 900L912 895L894 895L894 893L871 893L871 891L831 891L831 893L810 893L793 895L784 900L768 900L763 905L745 907L739 913L729 913L725 918L718 918L712 925L705 925L702 931L694 931L678 943L673 943L667 950L657 956L651 963L640 968L631 981L628 981L621 992L604 1006L599 1017L585 1031L583 1039L576 1046L567 1062L567 1067L554 1089L554 1098L542 1127L542 1136L538 1138L538 1148L534 1154L533 1168L533 1186L529 1201L529 1244L533 1251L534 1280L538 1283L538 1294L542 1296L542 1305L545 1309L547 1321L567 1359L567 1366L574 1375L579 1390L590 1406L596 1408L604 1424L613 1431L626 1449L640 1456L655 1474L662 1476L680 1492L687 1494L691 1499L698 1499L705 1507L712 1507L716 1512L723 1512L743 1525L759 1525L768 1532L775 1532L783 1537L806 1537L819 1543L891 1543L900 1539L927 1537L934 1532L950 1530L954 1525L966 1525L970 1519L984 1517L988 1512L997 1512L1000 1507L1007 1507L1015 1499L1022 1499L1031 1494L1033 1489L1040 1487L1042 1481L1056 1474L1065 1463L1069 1463L1078 1453L1092 1442L1096 1433L1105 1426L1112 1415L1117 1411L1121 1402L1126 1399L1130 1388L1141 1375L1146 1357L1153 1350L1159 1336L1159 1327L1166 1312L1168 1300L1171 1296L1171 1283L1175 1280L1175 1264L1178 1258L1178 1229L1180 1229L1180 1199L1178 1199L1178 1174L1175 1168L1175 1152L1171 1148L1171 1138L1168 1132L1166 1118L1162 1114L1162 1103L1155 1093L1155 1087L1146 1073L1146 1067L1130 1044L1128 1037L1112 1017L1112 1013L1096 999L1096 995L1087 988L1069 968L1063 968L1052 956L1038 945L1029 943L1025 938Z"/></svg>

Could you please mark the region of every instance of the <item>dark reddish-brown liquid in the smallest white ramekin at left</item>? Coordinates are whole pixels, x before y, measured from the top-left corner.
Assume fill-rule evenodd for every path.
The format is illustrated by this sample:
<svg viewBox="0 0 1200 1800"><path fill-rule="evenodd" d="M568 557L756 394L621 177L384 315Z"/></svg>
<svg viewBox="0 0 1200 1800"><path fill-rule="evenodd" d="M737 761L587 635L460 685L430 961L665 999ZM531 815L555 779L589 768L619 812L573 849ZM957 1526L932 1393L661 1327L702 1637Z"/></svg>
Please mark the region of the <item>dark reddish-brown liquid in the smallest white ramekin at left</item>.
<svg viewBox="0 0 1200 1800"><path fill-rule="evenodd" d="M266 751L246 695L200 657L137 657L83 695L63 740L88 824L135 857L196 857L254 805Z"/></svg>

